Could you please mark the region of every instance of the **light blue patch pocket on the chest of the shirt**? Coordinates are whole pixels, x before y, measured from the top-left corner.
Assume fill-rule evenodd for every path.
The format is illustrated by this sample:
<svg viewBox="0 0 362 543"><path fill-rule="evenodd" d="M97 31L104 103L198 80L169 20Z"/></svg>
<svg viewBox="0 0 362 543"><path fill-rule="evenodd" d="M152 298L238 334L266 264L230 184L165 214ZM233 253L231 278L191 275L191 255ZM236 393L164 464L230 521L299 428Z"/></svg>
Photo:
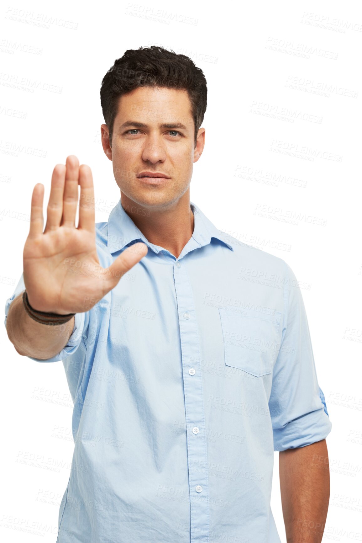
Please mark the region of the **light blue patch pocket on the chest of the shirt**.
<svg viewBox="0 0 362 543"><path fill-rule="evenodd" d="M277 356L281 313L245 315L219 307L225 364L261 377L273 369Z"/></svg>

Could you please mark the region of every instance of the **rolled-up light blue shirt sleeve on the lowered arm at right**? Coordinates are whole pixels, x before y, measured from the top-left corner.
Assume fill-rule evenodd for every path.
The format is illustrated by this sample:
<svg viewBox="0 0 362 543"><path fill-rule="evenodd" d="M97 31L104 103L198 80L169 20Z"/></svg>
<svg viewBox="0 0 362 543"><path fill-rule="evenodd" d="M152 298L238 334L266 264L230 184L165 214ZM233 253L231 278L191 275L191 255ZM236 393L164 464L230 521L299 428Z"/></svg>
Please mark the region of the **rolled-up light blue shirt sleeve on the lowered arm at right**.
<svg viewBox="0 0 362 543"><path fill-rule="evenodd" d="M284 264L287 273L282 339L269 399L275 451L321 441L332 428L325 396L317 381L301 290L293 270Z"/></svg>

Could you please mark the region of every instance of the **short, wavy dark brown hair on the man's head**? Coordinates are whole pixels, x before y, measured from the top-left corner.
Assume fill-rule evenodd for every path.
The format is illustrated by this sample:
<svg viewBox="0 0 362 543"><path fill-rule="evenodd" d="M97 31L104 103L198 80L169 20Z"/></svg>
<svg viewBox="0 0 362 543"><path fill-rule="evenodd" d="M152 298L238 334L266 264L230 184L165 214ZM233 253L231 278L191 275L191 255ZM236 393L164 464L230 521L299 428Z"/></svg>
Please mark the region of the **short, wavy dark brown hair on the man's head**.
<svg viewBox="0 0 362 543"><path fill-rule="evenodd" d="M128 49L115 60L105 74L100 87L100 103L112 144L119 97L137 87L169 87L185 89L194 119L195 146L198 130L204 121L207 105L207 86L204 72L186 55L153 45Z"/></svg>

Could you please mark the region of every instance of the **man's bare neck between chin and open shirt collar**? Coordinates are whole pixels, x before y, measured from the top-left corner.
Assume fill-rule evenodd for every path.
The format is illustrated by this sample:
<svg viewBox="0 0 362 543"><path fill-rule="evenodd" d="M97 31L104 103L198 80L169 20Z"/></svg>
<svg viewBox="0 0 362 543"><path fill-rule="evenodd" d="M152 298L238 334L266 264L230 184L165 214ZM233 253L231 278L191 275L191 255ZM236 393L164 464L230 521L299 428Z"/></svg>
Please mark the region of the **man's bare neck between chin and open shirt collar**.
<svg viewBox="0 0 362 543"><path fill-rule="evenodd" d="M168 250L178 258L194 231L194 214L187 190L175 204L152 209L120 193L124 211L150 243Z"/></svg>

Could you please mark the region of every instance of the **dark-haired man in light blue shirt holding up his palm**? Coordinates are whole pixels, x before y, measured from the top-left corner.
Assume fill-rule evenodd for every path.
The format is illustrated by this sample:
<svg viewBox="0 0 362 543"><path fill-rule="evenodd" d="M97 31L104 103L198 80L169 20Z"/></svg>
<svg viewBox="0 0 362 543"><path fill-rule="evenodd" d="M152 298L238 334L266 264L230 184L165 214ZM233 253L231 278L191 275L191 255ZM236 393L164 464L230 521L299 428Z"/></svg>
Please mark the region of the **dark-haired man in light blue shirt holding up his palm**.
<svg viewBox="0 0 362 543"><path fill-rule="evenodd" d="M17 352L63 361L74 401L58 543L280 542L274 451L287 540L321 541L329 473L315 459L331 422L295 275L190 201L204 74L160 47L128 50L101 105L120 200L95 225L91 170L68 156L43 231L35 185L5 307Z"/></svg>

